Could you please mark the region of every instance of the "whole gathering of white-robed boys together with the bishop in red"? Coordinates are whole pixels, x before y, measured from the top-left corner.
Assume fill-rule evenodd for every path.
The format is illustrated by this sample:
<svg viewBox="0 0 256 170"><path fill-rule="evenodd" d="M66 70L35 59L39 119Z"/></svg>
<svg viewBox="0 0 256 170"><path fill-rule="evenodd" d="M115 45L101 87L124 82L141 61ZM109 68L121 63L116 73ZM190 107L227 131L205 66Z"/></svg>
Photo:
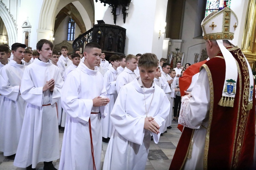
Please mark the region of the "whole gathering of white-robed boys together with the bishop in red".
<svg viewBox="0 0 256 170"><path fill-rule="evenodd" d="M0 151L30 170L39 162L54 170L52 161L59 158L59 169L96 170L106 142L104 170L145 169L151 140L158 143L179 122L183 132L170 169L249 168L254 81L228 38L205 36L209 58L184 67L178 61L175 68L153 53L114 54L107 61L93 42L70 56L67 47L58 52L46 39L36 50L1 45ZM65 128L61 154L58 126Z"/></svg>

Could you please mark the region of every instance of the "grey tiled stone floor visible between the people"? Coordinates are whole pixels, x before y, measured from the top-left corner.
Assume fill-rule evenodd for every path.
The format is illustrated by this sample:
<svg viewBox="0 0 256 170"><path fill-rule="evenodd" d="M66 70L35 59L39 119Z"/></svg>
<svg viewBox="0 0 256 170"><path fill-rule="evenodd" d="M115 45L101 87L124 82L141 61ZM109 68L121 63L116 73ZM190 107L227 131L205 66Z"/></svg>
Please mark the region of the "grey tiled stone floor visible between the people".
<svg viewBox="0 0 256 170"><path fill-rule="evenodd" d="M165 170L169 169L171 164L176 146L180 139L181 132L177 129L177 123L172 124L172 129L168 129L167 133L164 133L160 137L158 144L151 141L150 151L148 153L148 160L146 164L146 170ZM63 139L63 130L59 130L59 139L60 139L60 152ZM101 165L103 165L104 155L108 143L102 142L102 152L101 152ZM53 162L53 165L58 169L59 159ZM42 170L43 163L39 163L36 169ZM13 166L13 160L7 159L3 156L3 153L0 152L0 170L25 170L26 168L18 168Z"/></svg>

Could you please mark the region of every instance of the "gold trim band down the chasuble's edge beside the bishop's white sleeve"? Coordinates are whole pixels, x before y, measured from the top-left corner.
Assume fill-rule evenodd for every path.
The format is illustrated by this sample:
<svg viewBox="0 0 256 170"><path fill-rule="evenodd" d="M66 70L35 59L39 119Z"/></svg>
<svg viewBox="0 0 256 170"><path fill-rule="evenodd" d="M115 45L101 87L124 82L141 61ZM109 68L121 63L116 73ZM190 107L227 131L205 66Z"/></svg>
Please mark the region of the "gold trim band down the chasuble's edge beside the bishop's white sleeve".
<svg viewBox="0 0 256 170"><path fill-rule="evenodd" d="M203 158L203 169L207 169L207 161L208 161L208 151L209 151L209 141L210 141L210 129L212 124L212 114L213 114L213 104L214 104L214 92L213 92L213 82L212 82L212 74L210 69L206 64L203 64L202 67L205 69L209 79L210 86L210 112L209 112L209 123L205 135L205 144L204 144L204 158ZM202 68L201 67L201 68Z"/></svg>

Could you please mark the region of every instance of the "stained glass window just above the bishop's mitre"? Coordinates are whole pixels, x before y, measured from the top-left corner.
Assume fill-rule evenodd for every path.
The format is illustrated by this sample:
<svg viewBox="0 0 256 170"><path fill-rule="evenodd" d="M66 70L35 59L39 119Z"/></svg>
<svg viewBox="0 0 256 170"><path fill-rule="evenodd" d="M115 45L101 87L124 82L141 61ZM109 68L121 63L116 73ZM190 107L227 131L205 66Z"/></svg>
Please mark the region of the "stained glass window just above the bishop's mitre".
<svg viewBox="0 0 256 170"><path fill-rule="evenodd" d="M207 0L205 17L213 11L220 11L225 7L230 7L231 0Z"/></svg>

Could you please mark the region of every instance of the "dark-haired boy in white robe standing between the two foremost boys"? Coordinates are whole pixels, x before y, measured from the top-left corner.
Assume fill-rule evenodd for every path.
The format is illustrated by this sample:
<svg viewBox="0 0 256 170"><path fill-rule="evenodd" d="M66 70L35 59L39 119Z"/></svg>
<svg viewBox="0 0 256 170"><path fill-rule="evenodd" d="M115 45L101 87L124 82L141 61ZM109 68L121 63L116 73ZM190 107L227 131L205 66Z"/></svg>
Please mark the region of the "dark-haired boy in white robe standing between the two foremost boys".
<svg viewBox="0 0 256 170"><path fill-rule="evenodd" d="M113 129L110 121L110 113L117 98L116 78L118 72L116 69L120 66L120 57L114 54L109 58L109 61L112 67L109 67L104 76L104 87L106 88L107 97L110 99L110 102L105 106L105 113L101 116L102 141L106 143L109 142Z"/></svg>

